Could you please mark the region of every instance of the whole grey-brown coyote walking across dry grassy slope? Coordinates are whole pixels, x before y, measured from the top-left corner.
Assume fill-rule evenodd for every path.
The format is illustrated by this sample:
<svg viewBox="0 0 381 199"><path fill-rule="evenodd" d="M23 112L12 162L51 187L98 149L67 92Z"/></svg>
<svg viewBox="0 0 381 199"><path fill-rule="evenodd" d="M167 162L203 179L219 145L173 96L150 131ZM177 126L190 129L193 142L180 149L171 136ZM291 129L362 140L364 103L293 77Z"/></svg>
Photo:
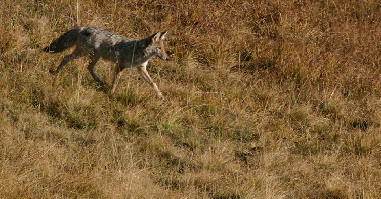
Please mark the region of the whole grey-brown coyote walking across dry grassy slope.
<svg viewBox="0 0 381 199"><path fill-rule="evenodd" d="M125 68L136 67L143 79L155 89L157 96L164 99L156 83L149 76L146 66L148 60L153 56L157 56L162 60L170 60L165 53L163 43L167 32L158 32L142 40L132 40L99 27L79 27L61 35L48 47L45 47L44 51L57 53L75 45L74 52L62 60L56 73L60 72L69 61L88 56L90 58L88 70L94 80L100 82L101 85L104 85L104 83L95 74L94 65L99 58L116 63L112 81L112 93L115 92L121 71Z"/></svg>

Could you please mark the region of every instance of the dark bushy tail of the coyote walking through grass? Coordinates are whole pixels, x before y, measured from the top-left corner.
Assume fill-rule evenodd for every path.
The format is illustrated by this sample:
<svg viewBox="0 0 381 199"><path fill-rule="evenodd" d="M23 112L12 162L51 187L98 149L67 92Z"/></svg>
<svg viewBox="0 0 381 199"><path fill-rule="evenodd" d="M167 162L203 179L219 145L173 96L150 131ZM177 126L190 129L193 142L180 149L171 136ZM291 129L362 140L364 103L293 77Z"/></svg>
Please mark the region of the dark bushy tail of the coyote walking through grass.
<svg viewBox="0 0 381 199"><path fill-rule="evenodd" d="M58 53L69 49L77 43L78 34L83 30L83 27L75 28L66 32L53 41L48 47L44 48L45 52Z"/></svg>

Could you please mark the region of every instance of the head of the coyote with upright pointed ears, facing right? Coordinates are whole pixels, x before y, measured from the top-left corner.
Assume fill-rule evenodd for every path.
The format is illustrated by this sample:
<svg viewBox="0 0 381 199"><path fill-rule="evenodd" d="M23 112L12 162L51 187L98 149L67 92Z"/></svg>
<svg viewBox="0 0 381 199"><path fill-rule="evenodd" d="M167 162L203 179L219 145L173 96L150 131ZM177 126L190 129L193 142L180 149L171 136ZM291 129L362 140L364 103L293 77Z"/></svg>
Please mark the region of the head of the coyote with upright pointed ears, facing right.
<svg viewBox="0 0 381 199"><path fill-rule="evenodd" d="M151 55L155 55L162 60L169 60L170 58L165 53L163 40L168 31L158 32L150 37L149 52Z"/></svg>

